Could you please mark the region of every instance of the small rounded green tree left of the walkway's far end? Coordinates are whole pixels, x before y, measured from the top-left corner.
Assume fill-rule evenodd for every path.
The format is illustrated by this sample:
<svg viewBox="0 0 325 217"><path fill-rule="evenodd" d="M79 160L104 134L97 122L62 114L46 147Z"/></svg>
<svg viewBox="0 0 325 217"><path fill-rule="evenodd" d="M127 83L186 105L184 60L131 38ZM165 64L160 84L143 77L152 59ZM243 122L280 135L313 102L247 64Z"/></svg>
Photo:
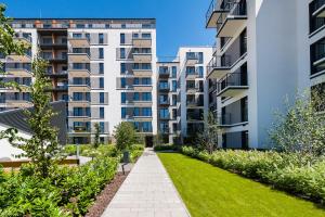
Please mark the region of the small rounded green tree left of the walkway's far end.
<svg viewBox="0 0 325 217"><path fill-rule="evenodd" d="M130 149L136 138L133 125L128 122L121 122L115 127L114 137L119 151Z"/></svg>

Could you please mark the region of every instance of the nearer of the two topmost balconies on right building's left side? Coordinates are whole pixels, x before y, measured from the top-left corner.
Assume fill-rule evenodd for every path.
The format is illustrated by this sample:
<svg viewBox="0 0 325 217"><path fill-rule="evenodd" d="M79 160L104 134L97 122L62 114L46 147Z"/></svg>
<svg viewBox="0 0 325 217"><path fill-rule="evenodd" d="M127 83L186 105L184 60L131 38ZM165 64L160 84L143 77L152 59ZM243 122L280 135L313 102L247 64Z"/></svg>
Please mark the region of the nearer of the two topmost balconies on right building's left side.
<svg viewBox="0 0 325 217"><path fill-rule="evenodd" d="M217 37L232 37L247 20L246 0L233 2L230 12L220 14L217 21Z"/></svg>

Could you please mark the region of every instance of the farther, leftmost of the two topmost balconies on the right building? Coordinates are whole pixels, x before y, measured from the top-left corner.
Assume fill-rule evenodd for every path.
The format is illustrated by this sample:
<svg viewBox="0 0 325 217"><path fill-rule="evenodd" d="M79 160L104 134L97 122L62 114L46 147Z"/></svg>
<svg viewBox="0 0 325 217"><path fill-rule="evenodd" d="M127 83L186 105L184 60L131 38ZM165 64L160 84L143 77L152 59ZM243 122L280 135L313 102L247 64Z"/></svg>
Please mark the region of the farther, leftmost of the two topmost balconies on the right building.
<svg viewBox="0 0 325 217"><path fill-rule="evenodd" d="M220 15L230 12L234 0L212 0L206 13L206 28L216 28Z"/></svg>

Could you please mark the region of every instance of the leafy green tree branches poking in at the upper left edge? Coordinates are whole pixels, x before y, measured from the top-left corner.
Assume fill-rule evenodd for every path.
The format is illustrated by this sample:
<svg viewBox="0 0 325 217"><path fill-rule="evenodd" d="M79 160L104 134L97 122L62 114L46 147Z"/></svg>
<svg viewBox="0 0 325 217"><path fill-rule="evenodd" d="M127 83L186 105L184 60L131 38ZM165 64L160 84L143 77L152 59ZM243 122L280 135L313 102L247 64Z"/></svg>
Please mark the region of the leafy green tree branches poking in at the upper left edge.
<svg viewBox="0 0 325 217"><path fill-rule="evenodd" d="M15 31L10 26L11 18L6 17L4 15L5 12L5 5L0 4L0 55L6 56L10 54L17 54L22 55L24 52L29 48L26 43L23 41L15 39ZM0 74L5 74L3 72L3 63L0 63ZM12 87L20 89L18 85L14 81L4 82L0 81L0 85L2 87Z"/></svg>

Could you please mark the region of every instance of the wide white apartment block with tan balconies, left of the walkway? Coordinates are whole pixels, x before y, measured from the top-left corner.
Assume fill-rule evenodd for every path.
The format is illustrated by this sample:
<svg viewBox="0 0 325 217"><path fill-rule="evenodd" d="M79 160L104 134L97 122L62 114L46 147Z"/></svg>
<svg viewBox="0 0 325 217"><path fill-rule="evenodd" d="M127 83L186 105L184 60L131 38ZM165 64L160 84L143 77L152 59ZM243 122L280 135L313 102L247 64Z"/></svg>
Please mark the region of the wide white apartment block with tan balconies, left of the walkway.
<svg viewBox="0 0 325 217"><path fill-rule="evenodd" d="M107 141L131 122L151 141L156 118L156 21L152 18L18 18L12 22L25 55L10 55L4 80L30 85L30 63L48 60L52 100L67 102L69 142L89 143L94 125ZM1 110L30 106L28 92L1 89Z"/></svg>

